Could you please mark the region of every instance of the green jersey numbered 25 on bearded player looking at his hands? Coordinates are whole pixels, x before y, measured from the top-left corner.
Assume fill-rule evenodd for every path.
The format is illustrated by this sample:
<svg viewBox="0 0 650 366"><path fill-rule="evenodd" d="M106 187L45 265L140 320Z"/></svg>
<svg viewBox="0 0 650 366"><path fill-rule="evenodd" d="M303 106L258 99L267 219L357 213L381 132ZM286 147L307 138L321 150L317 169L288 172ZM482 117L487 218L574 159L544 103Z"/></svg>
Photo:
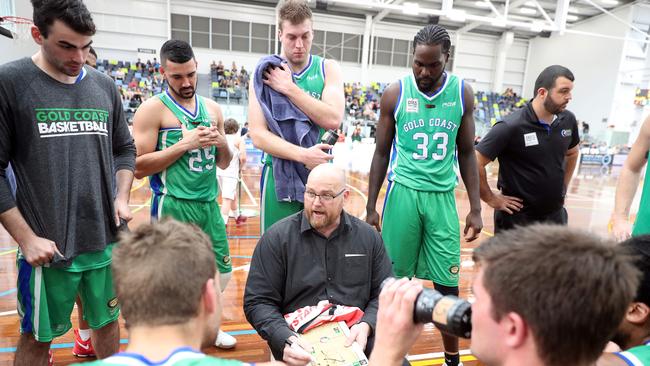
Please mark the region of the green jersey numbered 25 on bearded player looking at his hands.
<svg viewBox="0 0 650 366"><path fill-rule="evenodd" d="M191 113L176 103L168 91L156 96L169 108L188 130L210 126L211 119L203 97L196 98L196 110ZM156 150L164 150L183 137L181 128L161 128ZM216 172L217 149L214 146L187 151L165 170L149 178L156 195L170 195L194 201L214 201L219 193Z"/></svg>

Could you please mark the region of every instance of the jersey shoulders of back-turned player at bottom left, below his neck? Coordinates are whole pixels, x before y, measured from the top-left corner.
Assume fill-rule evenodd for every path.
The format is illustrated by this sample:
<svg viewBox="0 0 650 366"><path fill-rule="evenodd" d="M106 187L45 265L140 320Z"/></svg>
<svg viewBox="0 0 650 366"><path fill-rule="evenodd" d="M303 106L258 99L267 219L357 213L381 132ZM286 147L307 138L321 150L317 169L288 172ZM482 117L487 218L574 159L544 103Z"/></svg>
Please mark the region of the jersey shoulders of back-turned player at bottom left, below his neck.
<svg viewBox="0 0 650 366"><path fill-rule="evenodd" d="M128 352L120 352L103 360L90 363L77 364L76 366L246 366L235 360L223 360L207 356L201 352L194 351L189 347L183 347L172 352L167 358L160 362L153 362L146 357Z"/></svg>

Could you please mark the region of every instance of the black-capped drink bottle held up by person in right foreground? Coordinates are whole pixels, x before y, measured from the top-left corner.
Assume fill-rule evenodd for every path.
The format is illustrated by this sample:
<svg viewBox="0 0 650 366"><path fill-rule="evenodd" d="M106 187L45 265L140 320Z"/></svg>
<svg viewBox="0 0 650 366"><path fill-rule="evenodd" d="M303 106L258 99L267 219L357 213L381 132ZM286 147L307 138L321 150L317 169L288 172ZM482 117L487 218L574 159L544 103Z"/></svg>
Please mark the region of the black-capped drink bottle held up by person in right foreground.
<svg viewBox="0 0 650 366"><path fill-rule="evenodd" d="M382 283L382 288L389 277ZM433 323L441 332L461 338L470 338L472 334L472 305L453 295L425 288L422 290L413 309L415 323Z"/></svg>

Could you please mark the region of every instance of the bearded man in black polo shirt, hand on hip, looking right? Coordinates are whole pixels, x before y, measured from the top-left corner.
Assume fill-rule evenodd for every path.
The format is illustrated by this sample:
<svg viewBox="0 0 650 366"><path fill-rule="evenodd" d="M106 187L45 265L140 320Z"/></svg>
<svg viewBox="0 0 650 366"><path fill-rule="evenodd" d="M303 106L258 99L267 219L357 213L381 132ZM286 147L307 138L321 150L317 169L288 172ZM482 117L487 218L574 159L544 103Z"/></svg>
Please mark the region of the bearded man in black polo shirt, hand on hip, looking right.
<svg viewBox="0 0 650 366"><path fill-rule="evenodd" d="M476 146L481 199L494 208L494 230L534 222L566 224L564 195L578 160L578 123L566 110L573 73L560 65L544 69L535 95L497 122ZM493 192L485 166L499 159Z"/></svg>

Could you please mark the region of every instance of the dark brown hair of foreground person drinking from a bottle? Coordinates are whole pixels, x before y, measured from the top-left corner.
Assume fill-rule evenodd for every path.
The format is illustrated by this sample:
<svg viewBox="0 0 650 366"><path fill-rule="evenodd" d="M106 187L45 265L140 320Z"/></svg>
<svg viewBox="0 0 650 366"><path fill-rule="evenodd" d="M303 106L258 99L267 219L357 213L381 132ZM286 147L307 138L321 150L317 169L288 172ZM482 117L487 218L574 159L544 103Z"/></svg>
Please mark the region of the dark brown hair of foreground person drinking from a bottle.
<svg viewBox="0 0 650 366"><path fill-rule="evenodd" d="M595 362L639 284L625 249L566 226L499 233L476 248L473 258L483 270L492 317L519 314L549 366Z"/></svg>

